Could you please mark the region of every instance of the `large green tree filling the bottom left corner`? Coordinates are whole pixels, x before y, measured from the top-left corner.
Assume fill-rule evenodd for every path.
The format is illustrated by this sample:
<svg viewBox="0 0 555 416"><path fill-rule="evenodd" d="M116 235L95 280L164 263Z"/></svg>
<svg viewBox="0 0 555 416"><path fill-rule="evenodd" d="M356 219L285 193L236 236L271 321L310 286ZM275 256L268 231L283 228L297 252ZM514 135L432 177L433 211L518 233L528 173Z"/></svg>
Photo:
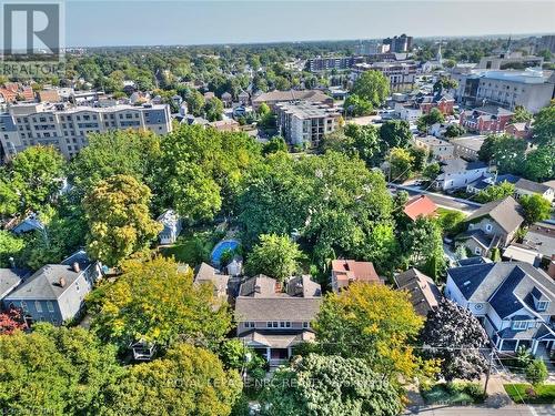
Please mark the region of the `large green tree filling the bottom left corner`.
<svg viewBox="0 0 555 416"><path fill-rule="evenodd" d="M34 324L0 336L0 407L16 414L98 414L121 369L115 349L81 328Z"/></svg>

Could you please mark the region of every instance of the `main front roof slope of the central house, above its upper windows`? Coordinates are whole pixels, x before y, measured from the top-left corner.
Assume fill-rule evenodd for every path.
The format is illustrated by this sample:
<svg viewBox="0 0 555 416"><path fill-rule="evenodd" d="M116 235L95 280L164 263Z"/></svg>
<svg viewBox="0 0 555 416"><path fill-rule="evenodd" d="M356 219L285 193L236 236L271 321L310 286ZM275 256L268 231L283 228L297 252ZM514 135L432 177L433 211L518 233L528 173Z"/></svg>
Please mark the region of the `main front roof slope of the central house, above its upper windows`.
<svg viewBox="0 0 555 416"><path fill-rule="evenodd" d="M311 322L320 311L321 297L250 297L235 301L235 319Z"/></svg>

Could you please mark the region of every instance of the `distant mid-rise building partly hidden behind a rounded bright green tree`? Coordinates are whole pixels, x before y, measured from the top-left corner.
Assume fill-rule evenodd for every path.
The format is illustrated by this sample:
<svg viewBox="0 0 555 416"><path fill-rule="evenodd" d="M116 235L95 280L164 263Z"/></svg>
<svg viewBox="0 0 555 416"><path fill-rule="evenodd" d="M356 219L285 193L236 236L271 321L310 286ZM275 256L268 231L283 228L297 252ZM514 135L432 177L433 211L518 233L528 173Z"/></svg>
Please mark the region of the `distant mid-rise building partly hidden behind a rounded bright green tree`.
<svg viewBox="0 0 555 416"><path fill-rule="evenodd" d="M391 91L406 91L414 87L417 64L414 61L357 63L353 67L352 79L355 81L366 71L380 71L390 79Z"/></svg>

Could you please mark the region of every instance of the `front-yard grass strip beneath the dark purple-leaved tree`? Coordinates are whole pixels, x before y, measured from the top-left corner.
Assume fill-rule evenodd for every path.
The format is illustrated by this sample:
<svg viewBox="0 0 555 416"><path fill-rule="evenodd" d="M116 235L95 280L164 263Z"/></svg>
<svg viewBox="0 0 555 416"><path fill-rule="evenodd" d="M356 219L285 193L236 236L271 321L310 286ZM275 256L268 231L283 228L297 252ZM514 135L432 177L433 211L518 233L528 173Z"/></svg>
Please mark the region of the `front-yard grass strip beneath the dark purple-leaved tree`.
<svg viewBox="0 0 555 416"><path fill-rule="evenodd" d="M422 389L421 394L427 404L442 405L470 405L482 403L484 396L482 388L472 383L438 383L427 389Z"/></svg>

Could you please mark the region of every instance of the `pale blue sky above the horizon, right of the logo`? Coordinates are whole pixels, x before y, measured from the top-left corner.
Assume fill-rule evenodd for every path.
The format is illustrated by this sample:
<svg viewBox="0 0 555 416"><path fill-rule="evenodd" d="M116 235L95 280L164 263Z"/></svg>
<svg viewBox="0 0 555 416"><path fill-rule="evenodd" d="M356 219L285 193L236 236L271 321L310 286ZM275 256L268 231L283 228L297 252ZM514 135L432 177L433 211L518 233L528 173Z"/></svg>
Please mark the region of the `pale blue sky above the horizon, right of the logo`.
<svg viewBox="0 0 555 416"><path fill-rule="evenodd" d="M555 32L553 0L67 0L65 45Z"/></svg>

